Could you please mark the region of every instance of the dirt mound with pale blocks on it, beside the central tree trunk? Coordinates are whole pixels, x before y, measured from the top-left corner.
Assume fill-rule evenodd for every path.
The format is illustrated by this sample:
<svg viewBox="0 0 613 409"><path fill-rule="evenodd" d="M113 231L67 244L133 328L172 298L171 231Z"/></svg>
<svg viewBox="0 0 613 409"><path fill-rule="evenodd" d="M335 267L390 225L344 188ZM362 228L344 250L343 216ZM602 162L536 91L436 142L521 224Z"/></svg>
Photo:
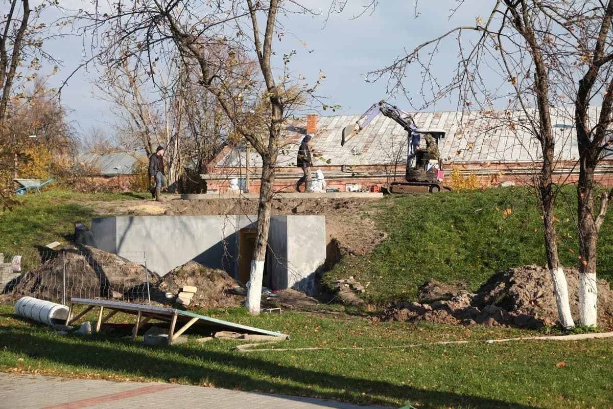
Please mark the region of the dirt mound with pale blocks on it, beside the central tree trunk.
<svg viewBox="0 0 613 409"><path fill-rule="evenodd" d="M245 300L245 296L228 292L238 285L237 281L224 270L211 269L196 261L189 261L164 275L156 286L154 294L151 294L151 299L162 304L172 304L181 288L194 286L197 291L192 297L189 307L238 307ZM169 298L166 293L172 294L172 296Z"/></svg>

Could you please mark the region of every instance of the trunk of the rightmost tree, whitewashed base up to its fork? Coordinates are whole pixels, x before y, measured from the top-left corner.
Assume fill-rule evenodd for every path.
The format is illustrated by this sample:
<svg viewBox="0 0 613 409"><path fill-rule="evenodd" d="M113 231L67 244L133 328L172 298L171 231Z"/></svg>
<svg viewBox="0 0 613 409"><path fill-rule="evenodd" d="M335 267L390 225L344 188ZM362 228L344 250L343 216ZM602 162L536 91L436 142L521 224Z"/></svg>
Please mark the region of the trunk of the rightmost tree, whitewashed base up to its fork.
<svg viewBox="0 0 613 409"><path fill-rule="evenodd" d="M594 218L594 169L581 166L577 183L579 213L579 323L596 326L596 243L598 226Z"/></svg>

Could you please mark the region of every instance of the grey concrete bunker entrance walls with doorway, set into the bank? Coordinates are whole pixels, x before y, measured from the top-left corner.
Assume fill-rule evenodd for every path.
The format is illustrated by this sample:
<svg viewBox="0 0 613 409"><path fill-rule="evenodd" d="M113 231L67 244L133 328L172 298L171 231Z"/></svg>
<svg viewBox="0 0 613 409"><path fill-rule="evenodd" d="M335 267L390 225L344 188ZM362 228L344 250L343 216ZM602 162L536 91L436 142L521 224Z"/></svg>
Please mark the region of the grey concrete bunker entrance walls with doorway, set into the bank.
<svg viewBox="0 0 613 409"><path fill-rule="evenodd" d="M245 283L257 216L113 216L91 226L101 250L145 251L147 268L158 275L193 260ZM271 216L264 286L314 294L316 271L325 261L326 216Z"/></svg>

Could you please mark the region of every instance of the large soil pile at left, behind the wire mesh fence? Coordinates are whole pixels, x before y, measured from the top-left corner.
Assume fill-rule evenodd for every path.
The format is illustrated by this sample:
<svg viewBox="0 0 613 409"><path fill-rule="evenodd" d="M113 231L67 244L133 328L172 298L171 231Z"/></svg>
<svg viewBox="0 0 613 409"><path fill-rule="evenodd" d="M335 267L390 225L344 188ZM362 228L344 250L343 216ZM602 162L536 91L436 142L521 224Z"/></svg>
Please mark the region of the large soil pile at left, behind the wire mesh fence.
<svg viewBox="0 0 613 409"><path fill-rule="evenodd" d="M66 254L65 258L63 253ZM158 275L152 272L148 274L150 282L159 280ZM7 296L10 299L31 296L61 300L64 277L66 288L73 297L147 298L146 284L143 284L145 267L116 254L85 245L64 247L50 259L25 273Z"/></svg>

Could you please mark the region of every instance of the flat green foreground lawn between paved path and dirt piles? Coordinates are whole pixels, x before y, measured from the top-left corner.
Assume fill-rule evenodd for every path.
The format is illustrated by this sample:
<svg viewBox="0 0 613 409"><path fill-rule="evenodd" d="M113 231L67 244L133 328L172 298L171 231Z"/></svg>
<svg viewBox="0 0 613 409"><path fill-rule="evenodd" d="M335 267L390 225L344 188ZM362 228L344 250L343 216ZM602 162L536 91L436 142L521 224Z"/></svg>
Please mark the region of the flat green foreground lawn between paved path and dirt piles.
<svg viewBox="0 0 613 409"><path fill-rule="evenodd" d="M90 315L93 318L94 315ZM61 336L0 307L0 370L76 378L164 381L421 408L607 407L613 399L611 340L483 342L531 332L481 326L371 323L283 313L222 319L285 332L262 348L329 348L240 354L235 341L193 338L149 348L128 334ZM119 319L121 321L121 318ZM133 320L133 318L132 318ZM427 345L472 340L460 345ZM422 344L419 346L406 346ZM402 346L389 349L338 347ZM564 362L563 367L557 367Z"/></svg>

